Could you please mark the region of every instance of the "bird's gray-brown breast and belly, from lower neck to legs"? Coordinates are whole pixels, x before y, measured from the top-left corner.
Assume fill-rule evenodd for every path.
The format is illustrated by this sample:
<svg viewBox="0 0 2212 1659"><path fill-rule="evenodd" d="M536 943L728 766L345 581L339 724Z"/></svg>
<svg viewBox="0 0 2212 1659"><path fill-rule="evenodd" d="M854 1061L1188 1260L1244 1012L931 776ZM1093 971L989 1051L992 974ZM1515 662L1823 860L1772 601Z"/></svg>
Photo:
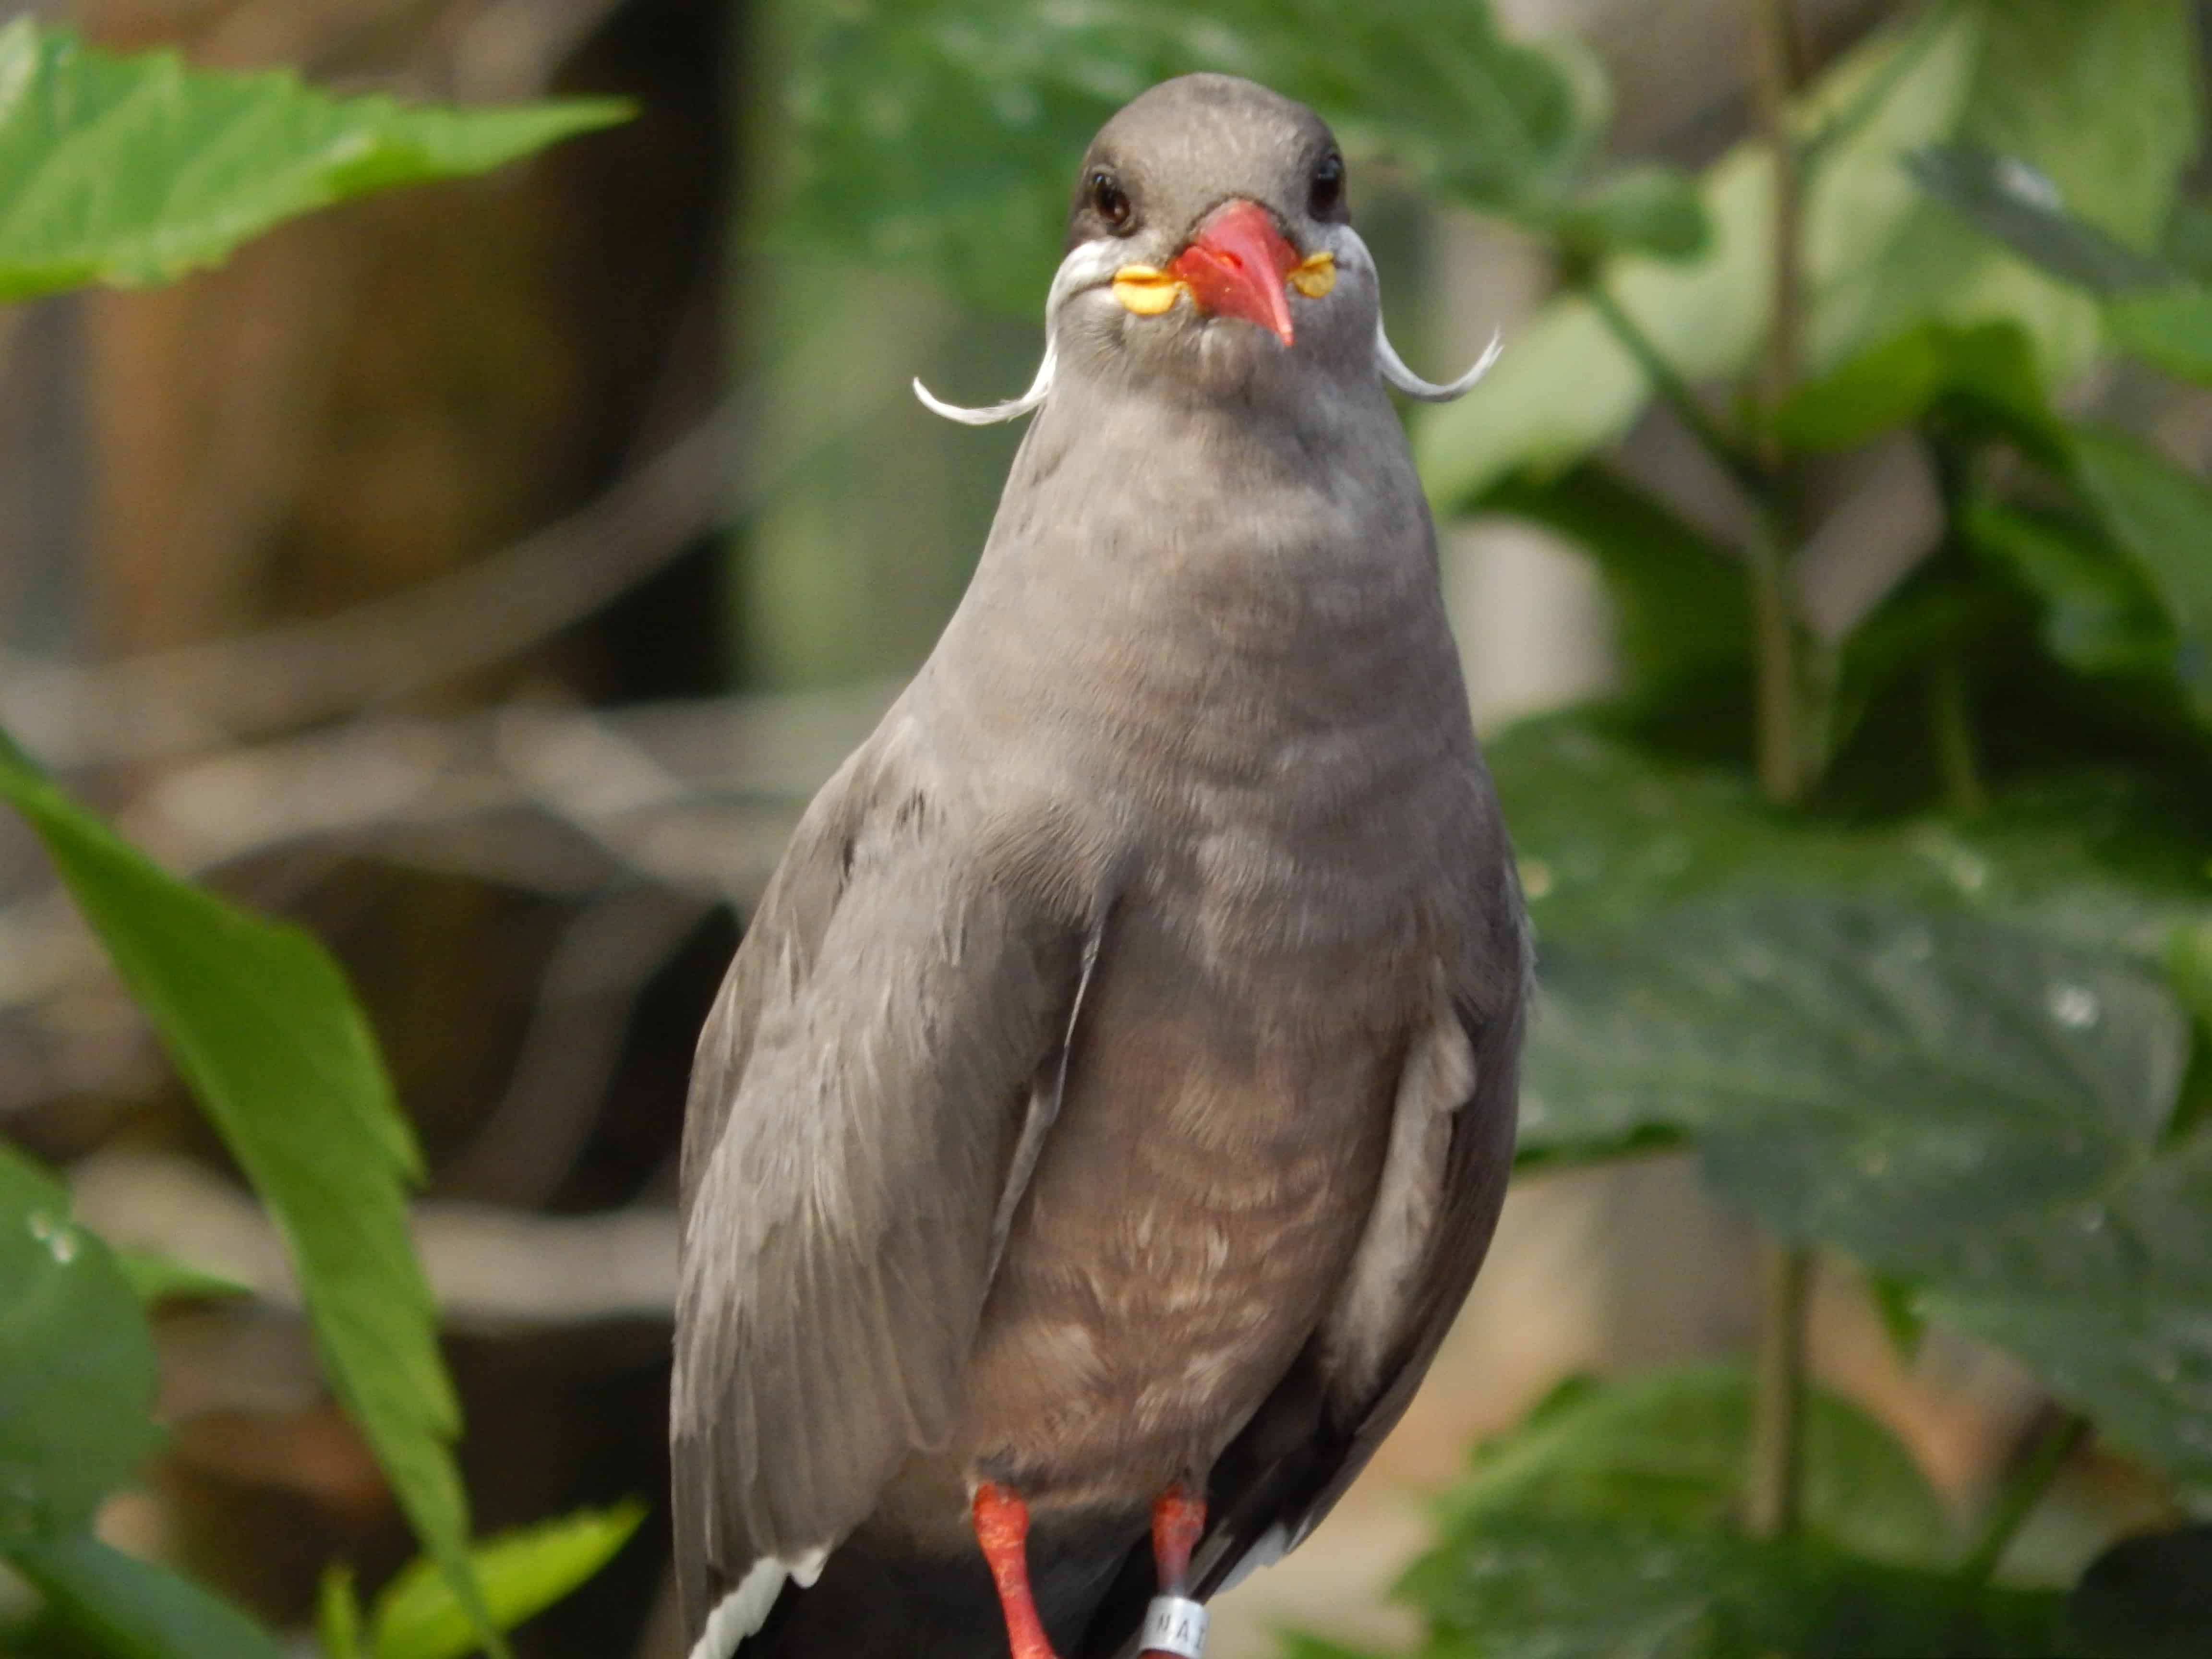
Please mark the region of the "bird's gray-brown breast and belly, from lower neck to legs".
<svg viewBox="0 0 2212 1659"><path fill-rule="evenodd" d="M964 613L1013 637L940 688L1113 889L940 1493L1201 1475L1343 1287L1433 1006L1473 739L1411 471L1201 473L1022 509Z"/></svg>

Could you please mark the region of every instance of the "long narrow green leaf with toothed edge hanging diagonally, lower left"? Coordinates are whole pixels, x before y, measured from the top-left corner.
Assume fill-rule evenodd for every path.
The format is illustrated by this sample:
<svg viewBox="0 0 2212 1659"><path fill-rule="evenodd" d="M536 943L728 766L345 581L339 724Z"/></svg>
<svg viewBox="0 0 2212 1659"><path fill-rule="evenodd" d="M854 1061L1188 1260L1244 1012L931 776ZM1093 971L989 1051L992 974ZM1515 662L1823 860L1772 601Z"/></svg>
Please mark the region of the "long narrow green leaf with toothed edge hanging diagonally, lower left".
<svg viewBox="0 0 2212 1659"><path fill-rule="evenodd" d="M469 1586L460 1407L407 1234L420 1155L321 945L161 872L0 737L0 799L46 845L170 1060L270 1208L332 1391L422 1546ZM473 1586L471 1590L473 1593Z"/></svg>

